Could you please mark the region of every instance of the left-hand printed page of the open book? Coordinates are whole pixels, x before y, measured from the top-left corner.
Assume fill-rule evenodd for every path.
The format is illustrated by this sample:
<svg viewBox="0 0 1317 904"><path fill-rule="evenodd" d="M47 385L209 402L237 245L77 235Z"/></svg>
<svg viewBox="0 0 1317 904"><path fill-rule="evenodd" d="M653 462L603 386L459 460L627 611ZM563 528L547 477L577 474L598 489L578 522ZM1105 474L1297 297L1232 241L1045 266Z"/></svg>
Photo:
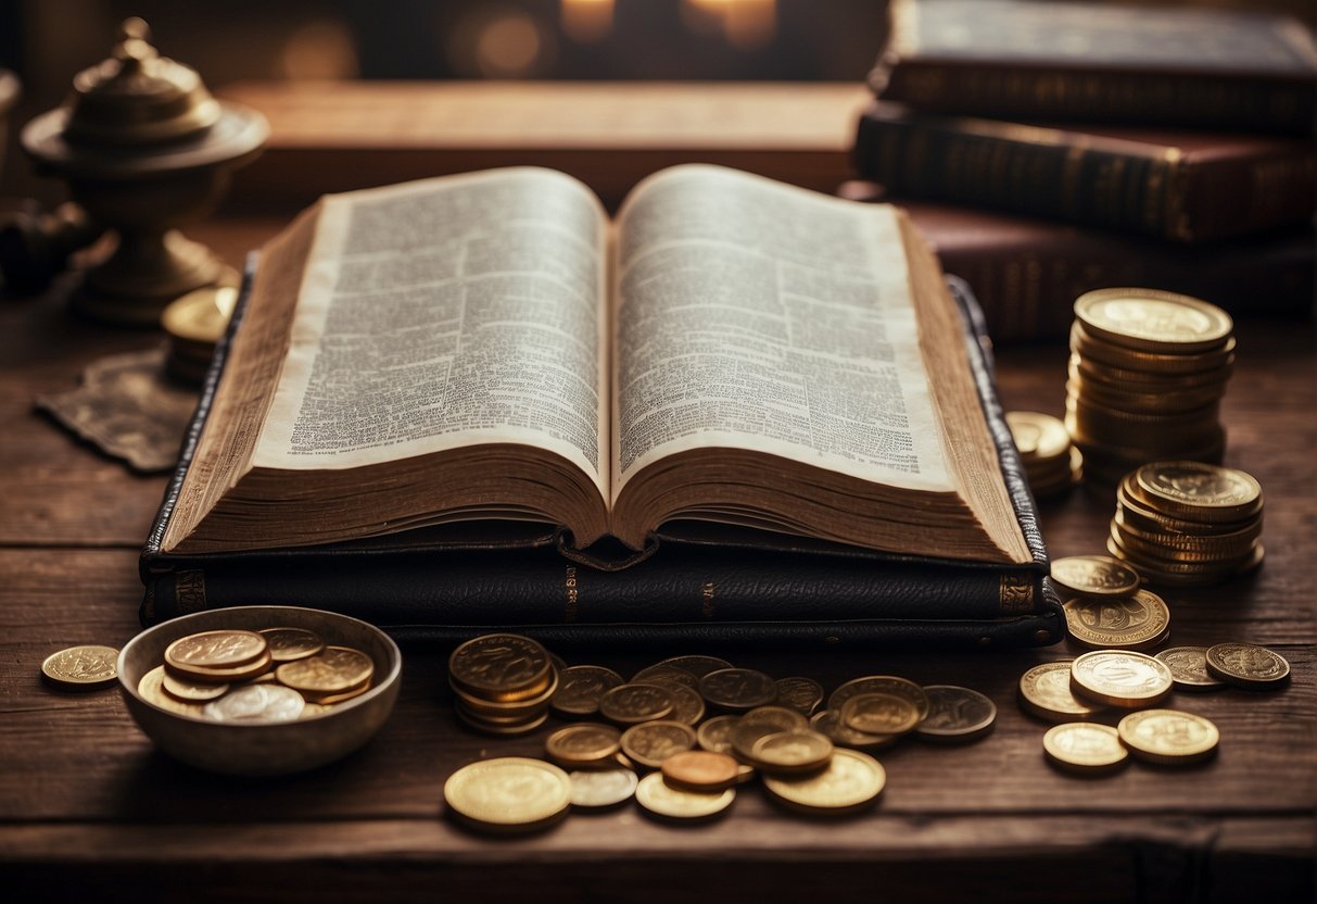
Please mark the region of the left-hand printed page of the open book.
<svg viewBox="0 0 1317 904"><path fill-rule="evenodd" d="M607 498L607 219L560 173L325 199L254 464L349 468L543 447Z"/></svg>

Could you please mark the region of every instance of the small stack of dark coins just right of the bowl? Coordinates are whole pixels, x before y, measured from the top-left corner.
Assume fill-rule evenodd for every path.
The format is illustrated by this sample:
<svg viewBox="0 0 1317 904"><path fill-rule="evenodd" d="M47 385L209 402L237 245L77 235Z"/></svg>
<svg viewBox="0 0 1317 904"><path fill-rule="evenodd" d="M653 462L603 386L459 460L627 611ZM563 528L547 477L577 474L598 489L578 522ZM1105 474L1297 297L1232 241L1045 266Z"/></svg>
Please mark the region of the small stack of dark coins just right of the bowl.
<svg viewBox="0 0 1317 904"><path fill-rule="evenodd" d="M485 634L448 660L458 717L489 734L524 734L544 725L558 671L540 643L519 634Z"/></svg>

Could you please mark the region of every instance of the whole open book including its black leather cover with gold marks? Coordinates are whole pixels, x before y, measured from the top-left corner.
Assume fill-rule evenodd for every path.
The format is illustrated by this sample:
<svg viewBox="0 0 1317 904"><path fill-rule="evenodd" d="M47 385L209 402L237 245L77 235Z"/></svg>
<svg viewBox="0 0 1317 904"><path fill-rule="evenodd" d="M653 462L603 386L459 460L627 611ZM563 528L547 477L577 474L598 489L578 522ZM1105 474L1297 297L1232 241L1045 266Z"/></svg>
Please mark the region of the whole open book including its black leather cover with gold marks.
<svg viewBox="0 0 1317 904"><path fill-rule="evenodd" d="M144 618L1059 639L968 293L900 210L712 166L329 195L259 254Z"/></svg>

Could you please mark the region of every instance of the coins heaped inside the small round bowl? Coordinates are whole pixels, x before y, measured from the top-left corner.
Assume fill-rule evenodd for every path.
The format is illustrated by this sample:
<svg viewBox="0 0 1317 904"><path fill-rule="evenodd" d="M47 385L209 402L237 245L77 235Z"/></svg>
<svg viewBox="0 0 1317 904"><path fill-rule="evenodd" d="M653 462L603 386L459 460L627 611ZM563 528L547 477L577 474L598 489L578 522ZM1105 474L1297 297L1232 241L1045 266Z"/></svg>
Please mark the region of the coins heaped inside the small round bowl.
<svg viewBox="0 0 1317 904"><path fill-rule="evenodd" d="M370 689L374 662L313 631L269 627L190 634L165 650L137 693L180 716L271 723L308 718Z"/></svg>

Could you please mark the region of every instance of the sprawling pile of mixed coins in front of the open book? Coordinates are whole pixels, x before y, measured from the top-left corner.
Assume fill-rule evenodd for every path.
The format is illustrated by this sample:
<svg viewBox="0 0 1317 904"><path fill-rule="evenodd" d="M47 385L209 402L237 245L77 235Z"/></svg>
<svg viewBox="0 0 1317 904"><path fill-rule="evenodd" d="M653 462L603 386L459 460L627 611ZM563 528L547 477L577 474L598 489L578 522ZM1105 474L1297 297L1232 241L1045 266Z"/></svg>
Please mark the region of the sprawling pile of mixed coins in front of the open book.
<svg viewBox="0 0 1317 904"><path fill-rule="evenodd" d="M537 829L569 809L618 806L632 797L653 817L698 821L726 812L738 788L756 779L788 809L853 813L872 805L886 784L872 752L910 735L975 741L997 717L996 705L976 691L921 687L894 675L847 681L823 709L823 688L813 679L774 680L714 656L665 659L630 681L601 665L556 668L552 660L539 643L512 634L479 636L453 651L449 684L469 726L529 731L545 717L529 716L531 698L545 698L556 714L576 720L548 737L543 760L504 756L454 772L444 799L468 824ZM549 673L554 677L544 677ZM518 722L473 718L483 712L473 708L473 697L525 712Z"/></svg>

